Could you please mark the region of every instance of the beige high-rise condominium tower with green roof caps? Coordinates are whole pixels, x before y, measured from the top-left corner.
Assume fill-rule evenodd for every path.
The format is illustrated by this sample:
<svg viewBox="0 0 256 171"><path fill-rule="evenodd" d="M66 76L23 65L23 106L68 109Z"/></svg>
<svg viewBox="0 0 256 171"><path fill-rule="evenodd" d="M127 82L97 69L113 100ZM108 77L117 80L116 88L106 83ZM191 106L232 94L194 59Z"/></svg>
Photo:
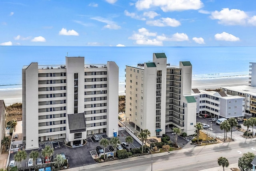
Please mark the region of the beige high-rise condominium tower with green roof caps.
<svg viewBox="0 0 256 171"><path fill-rule="evenodd" d="M178 127L195 134L196 100L191 95L192 65L167 64L165 53L153 53L153 61L126 66L126 118L136 130L148 129L151 136Z"/></svg>

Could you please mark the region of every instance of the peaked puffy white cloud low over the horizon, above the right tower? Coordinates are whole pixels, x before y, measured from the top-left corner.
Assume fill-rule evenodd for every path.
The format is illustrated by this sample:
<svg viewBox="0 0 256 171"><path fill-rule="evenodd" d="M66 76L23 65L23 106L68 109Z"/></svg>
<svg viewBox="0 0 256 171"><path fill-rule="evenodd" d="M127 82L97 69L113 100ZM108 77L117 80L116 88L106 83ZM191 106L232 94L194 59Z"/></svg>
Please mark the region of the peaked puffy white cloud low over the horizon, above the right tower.
<svg viewBox="0 0 256 171"><path fill-rule="evenodd" d="M137 45L157 45L162 46L163 42L157 40L157 33L149 32L146 28L138 29L138 33L133 33L129 39L135 40Z"/></svg>

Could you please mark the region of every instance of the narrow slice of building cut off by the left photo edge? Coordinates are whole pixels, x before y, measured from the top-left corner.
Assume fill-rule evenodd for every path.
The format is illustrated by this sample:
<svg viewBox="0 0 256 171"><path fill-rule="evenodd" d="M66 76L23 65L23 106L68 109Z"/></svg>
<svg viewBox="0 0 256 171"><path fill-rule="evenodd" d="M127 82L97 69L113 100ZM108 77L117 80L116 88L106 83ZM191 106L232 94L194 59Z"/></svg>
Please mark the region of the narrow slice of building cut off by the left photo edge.
<svg viewBox="0 0 256 171"><path fill-rule="evenodd" d="M4 100L0 100L0 126L2 128L2 131L0 131L0 138L1 140L4 139L5 136L5 130L6 130L6 106L4 104ZM3 144L0 143L0 154L2 153Z"/></svg>

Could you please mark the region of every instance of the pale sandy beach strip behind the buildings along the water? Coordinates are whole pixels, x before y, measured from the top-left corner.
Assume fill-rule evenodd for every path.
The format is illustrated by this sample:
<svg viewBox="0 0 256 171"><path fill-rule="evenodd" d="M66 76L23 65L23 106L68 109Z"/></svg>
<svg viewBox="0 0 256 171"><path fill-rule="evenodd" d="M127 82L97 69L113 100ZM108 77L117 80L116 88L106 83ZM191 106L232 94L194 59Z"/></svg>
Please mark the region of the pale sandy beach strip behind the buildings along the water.
<svg viewBox="0 0 256 171"><path fill-rule="evenodd" d="M222 86L248 85L248 77L238 78L218 78L218 79L198 79L192 80L192 88L217 89ZM125 95L125 83L119 83L118 95ZM4 100L6 106L14 103L22 103L22 89L1 90L0 100Z"/></svg>

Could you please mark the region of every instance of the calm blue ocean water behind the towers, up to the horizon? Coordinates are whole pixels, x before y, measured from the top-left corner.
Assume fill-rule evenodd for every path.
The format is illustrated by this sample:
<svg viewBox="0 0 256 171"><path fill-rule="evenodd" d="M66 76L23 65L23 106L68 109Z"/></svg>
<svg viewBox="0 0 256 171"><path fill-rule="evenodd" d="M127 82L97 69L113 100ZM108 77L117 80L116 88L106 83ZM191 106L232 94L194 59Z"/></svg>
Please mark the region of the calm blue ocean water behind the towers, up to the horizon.
<svg viewBox="0 0 256 171"><path fill-rule="evenodd" d="M256 62L256 47L0 46L0 90L22 88L24 65L64 65L66 56L83 56L85 64L114 61L124 83L126 65L152 61L153 53L163 52L170 65L190 61L192 79L248 77L249 63Z"/></svg>

